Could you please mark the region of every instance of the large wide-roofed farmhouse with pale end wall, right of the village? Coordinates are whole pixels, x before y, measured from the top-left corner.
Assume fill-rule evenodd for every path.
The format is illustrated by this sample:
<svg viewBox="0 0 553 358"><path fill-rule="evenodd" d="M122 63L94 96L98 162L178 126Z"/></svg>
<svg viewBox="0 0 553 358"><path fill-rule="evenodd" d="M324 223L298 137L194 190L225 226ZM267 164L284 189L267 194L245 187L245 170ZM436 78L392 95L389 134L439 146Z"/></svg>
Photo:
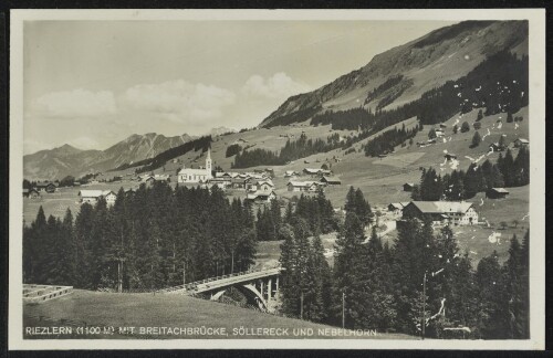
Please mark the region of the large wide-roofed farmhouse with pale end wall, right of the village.
<svg viewBox="0 0 553 358"><path fill-rule="evenodd" d="M403 211L403 218L429 218L432 224L471 225L478 223L478 212L467 201L411 201Z"/></svg>

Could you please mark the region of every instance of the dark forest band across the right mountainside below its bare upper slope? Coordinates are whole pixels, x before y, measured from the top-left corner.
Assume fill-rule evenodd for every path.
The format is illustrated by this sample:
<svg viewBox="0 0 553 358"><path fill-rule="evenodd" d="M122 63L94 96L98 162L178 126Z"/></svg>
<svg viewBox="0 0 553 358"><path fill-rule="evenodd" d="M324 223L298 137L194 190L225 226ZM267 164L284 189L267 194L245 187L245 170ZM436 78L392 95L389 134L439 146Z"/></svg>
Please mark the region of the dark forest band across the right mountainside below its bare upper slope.
<svg viewBox="0 0 553 358"><path fill-rule="evenodd" d="M528 55L518 57L508 51L498 52L457 81L425 92L420 98L389 110L379 106L374 113L363 107L347 110L327 110L311 119L312 125L332 125L333 129L369 130L376 133L401 120L417 117L421 124L442 123L456 113L468 113L473 108L484 108L484 115L517 113L528 106L529 72ZM399 86L399 76L388 78L384 84ZM403 87L398 88L400 92ZM383 91L375 90L378 94ZM374 94L368 94L373 98Z"/></svg>

